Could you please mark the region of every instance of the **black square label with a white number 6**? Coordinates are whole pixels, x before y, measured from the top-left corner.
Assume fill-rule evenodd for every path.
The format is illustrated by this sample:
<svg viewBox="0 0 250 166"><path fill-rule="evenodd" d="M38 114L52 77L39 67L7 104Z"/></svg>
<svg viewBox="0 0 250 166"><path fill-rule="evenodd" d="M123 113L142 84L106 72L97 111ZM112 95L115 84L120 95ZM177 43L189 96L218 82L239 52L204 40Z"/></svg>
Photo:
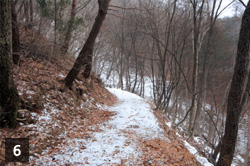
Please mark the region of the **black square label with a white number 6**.
<svg viewBox="0 0 250 166"><path fill-rule="evenodd" d="M5 162L29 162L29 138L5 138Z"/></svg>

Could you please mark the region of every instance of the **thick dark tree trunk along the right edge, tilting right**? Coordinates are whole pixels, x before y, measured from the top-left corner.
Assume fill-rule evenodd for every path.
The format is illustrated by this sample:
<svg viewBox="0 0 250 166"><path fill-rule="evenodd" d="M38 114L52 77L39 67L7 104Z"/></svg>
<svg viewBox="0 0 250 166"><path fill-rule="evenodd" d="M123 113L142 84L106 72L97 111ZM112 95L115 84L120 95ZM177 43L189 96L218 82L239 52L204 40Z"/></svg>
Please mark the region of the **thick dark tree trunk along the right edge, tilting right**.
<svg viewBox="0 0 250 166"><path fill-rule="evenodd" d="M228 95L225 134L217 166L229 166L232 163L238 134L238 123L242 108L243 94L246 90L249 72L250 46L250 1L243 14L237 49L237 59L231 89Z"/></svg>

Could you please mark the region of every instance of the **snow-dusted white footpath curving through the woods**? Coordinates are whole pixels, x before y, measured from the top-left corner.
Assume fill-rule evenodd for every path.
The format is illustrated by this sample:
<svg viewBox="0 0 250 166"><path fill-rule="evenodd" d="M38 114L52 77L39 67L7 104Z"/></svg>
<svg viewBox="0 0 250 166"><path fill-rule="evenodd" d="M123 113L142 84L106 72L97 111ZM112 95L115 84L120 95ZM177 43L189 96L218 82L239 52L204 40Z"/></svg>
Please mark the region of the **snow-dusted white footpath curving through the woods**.
<svg viewBox="0 0 250 166"><path fill-rule="evenodd" d="M90 139L70 140L72 146L66 153L55 156L58 164L115 165L126 161L126 165L134 165L142 155L139 140L164 137L144 99L119 89L109 91L118 98L118 103L109 108L116 115L101 124L102 132L92 133Z"/></svg>

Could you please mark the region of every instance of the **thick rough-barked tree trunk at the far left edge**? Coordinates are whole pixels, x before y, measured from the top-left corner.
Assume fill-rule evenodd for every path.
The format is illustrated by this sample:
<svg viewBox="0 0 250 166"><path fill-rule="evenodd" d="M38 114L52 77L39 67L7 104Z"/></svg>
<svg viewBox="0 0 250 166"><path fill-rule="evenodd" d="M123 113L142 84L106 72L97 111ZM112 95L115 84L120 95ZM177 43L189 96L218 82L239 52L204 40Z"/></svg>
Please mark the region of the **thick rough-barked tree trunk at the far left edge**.
<svg viewBox="0 0 250 166"><path fill-rule="evenodd" d="M0 126L14 128L19 105L13 81L11 1L0 1Z"/></svg>

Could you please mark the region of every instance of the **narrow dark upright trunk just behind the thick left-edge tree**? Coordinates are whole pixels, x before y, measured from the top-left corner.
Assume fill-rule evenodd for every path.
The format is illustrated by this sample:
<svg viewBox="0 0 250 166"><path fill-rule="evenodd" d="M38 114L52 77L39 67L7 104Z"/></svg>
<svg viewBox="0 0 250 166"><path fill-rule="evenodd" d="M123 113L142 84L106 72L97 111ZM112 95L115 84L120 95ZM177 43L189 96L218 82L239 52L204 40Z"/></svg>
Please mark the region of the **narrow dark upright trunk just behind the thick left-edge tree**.
<svg viewBox="0 0 250 166"><path fill-rule="evenodd" d="M11 16L12 16L12 56L13 63L19 64L20 61L20 36L19 36L19 26L17 22L17 15L15 11L14 1L11 0Z"/></svg>

